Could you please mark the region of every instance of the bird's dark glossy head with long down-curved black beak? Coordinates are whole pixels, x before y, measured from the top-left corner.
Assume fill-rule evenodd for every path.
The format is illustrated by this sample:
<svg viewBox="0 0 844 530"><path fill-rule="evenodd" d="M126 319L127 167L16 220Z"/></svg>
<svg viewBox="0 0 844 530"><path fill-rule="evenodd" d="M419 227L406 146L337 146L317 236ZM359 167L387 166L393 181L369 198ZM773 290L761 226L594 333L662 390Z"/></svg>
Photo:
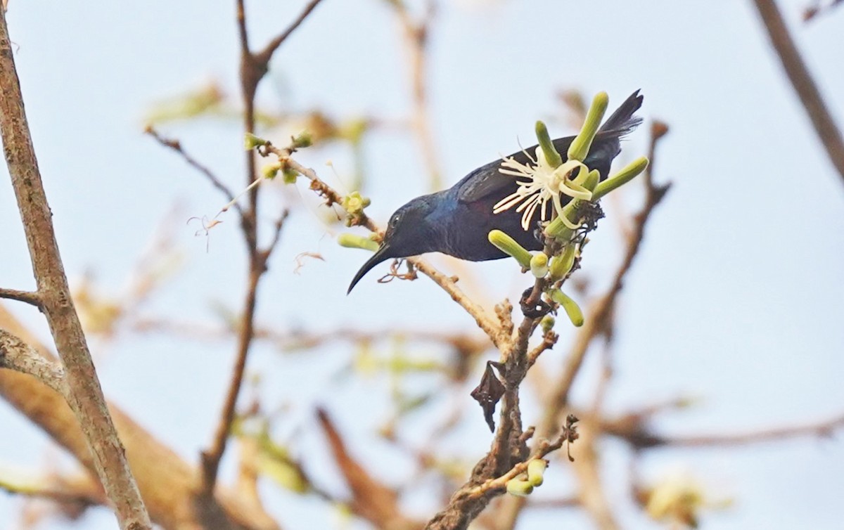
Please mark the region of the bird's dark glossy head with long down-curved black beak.
<svg viewBox="0 0 844 530"><path fill-rule="evenodd" d="M390 216L387 230L381 246L372 255L349 284L348 295L364 275L378 263L385 262L392 257L416 256L424 252L436 250L435 230L428 215L435 206L436 199L431 195L416 197L414 200L398 208Z"/></svg>

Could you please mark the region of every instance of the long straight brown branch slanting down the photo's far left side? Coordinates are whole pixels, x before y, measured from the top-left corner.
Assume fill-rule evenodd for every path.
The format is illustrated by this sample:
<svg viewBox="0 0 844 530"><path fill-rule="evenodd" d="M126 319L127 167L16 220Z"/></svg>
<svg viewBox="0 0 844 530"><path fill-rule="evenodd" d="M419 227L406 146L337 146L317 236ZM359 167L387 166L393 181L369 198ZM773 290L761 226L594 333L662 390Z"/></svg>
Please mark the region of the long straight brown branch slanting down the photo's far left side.
<svg viewBox="0 0 844 530"><path fill-rule="evenodd" d="M47 204L35 149L24 113L18 73L6 26L6 15L0 10L0 130L9 175L24 233L30 248L35 284L41 298L41 309L56 343L65 369L68 403L95 457L95 467L106 495L114 505L120 526L124 529L151 528L149 514L143 506L132 471L106 408L100 381L85 342L82 325L73 308L68 279L59 255L52 214Z"/></svg>

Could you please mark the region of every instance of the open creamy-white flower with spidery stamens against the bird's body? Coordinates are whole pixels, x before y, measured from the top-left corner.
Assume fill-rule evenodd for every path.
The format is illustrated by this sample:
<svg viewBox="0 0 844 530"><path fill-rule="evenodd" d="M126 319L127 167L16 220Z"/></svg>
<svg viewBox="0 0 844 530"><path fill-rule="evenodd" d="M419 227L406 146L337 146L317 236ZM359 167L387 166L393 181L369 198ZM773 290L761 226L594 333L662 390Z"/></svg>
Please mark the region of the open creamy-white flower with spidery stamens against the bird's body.
<svg viewBox="0 0 844 530"><path fill-rule="evenodd" d="M554 204L557 215L561 215L563 205L560 201L560 193L582 200L592 198L592 192L580 186L580 182L571 181L569 178L571 175L576 175L579 168L583 168L582 176L586 176L589 170L581 161L568 160L559 167L553 168L545 160L542 148L536 148L536 158L525 151L522 152L530 160L527 164L517 162L513 158L502 159L499 169L501 173L525 180L517 180L519 187L516 192L495 203L492 208L493 214L500 214L518 204L516 211L522 212L522 229L527 230L537 208L540 211L540 219L543 221L549 219L549 202Z"/></svg>

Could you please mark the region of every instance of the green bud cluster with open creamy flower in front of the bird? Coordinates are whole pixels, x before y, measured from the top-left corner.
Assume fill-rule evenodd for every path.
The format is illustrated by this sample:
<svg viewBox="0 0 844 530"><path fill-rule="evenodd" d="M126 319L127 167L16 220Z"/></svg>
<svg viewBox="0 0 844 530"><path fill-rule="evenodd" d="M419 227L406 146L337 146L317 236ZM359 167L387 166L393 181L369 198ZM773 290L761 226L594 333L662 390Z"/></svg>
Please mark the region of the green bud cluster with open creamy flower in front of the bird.
<svg viewBox="0 0 844 530"><path fill-rule="evenodd" d="M607 193L641 174L648 164L647 158L641 156L601 181L598 170L589 170L583 163L598 133L608 104L609 97L606 92L600 92L594 97L580 133L569 145L565 162L551 141L548 128L543 122L537 122L537 166L517 165L512 160L505 160L501 165L504 168L502 172L533 179L533 182L522 182L519 191L505 197L496 205L496 210L503 211L524 201L533 203L532 207L526 207L525 204L520 207L531 217L538 204L542 205L541 211L544 214L545 203L552 202L555 217L545 225L544 235L555 241L555 244L550 246L555 248L554 253L546 253L549 246L546 246L545 251L531 253L500 230L492 230L489 234L490 243L514 257L523 270L529 270L537 279L548 279L549 289L545 295L555 306L565 311L575 326L582 326L583 312L570 296L560 290L560 284L571 273L580 255L582 242L576 237L576 230L581 228L583 222L582 203L597 203ZM571 197L565 206L561 204L560 194ZM522 224L527 224L525 219L522 219Z"/></svg>

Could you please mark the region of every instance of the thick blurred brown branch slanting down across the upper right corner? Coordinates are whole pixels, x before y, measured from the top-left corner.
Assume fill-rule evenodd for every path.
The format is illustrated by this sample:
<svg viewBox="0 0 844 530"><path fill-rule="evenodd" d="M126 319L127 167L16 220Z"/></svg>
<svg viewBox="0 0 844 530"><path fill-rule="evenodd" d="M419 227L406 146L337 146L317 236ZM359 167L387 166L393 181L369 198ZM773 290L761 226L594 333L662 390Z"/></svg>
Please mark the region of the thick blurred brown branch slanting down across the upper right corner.
<svg viewBox="0 0 844 530"><path fill-rule="evenodd" d="M792 40L791 34L779 8L774 0L754 0L756 9L768 36L771 38L771 45L774 46L777 55L782 62L782 68L786 71L794 90L797 92L803 108L809 114L809 119L814 126L814 132L818 134L820 142L824 144L826 154L830 162L838 170L841 180L844 181L844 139L841 138L841 131L836 127L836 122L830 116L823 97L814 79L806 68L803 57Z"/></svg>

